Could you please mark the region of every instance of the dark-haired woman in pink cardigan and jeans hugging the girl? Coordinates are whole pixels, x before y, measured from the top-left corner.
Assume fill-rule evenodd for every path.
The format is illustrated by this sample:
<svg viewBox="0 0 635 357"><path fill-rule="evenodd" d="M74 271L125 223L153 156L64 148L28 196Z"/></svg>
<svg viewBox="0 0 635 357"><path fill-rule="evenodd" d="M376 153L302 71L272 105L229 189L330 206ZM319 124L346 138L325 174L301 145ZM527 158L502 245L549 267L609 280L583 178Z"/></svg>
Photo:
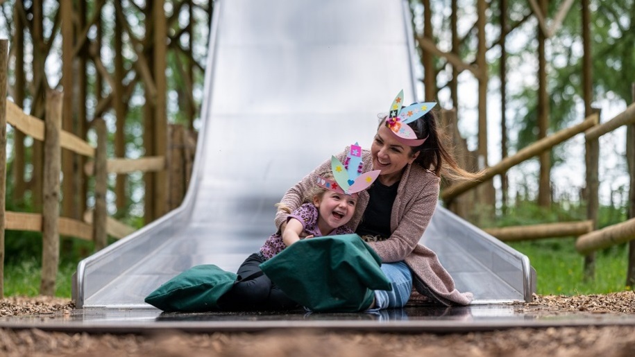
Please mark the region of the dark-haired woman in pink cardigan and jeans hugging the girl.
<svg viewBox="0 0 635 357"><path fill-rule="evenodd" d="M403 307L411 297L445 305L467 305L471 293L459 293L437 255L418 241L430 223L439 199L441 174L452 179L476 179L457 166L443 147L432 107L415 103L401 107L403 91L383 116L371 150L362 153L365 170L381 170L378 180L359 194L357 214L350 226L382 259L382 270L393 291L375 292L372 308ZM399 110L401 109L401 110ZM414 113L413 113L414 112ZM414 115L413 115L414 114ZM347 150L336 157L342 160ZM318 173L328 171L330 160L291 187L280 201L290 209L302 204ZM284 231L288 214L278 211L276 227Z"/></svg>

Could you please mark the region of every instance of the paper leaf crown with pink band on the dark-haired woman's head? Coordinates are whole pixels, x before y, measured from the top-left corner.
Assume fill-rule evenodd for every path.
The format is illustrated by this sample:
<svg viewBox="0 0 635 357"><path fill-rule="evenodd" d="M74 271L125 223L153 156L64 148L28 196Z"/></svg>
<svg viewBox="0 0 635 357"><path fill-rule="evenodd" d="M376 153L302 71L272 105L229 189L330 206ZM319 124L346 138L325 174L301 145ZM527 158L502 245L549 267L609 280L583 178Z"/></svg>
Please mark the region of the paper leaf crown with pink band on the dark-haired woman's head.
<svg viewBox="0 0 635 357"><path fill-rule="evenodd" d="M386 126L395 134L397 140L404 143L407 146L420 146L425 143L424 139L417 139L416 134L407 123L416 121L421 118L425 113L430 112L435 102L423 102L414 103L402 108L403 103L403 89L397 94L397 97L390 106L390 112L386 119Z"/></svg>

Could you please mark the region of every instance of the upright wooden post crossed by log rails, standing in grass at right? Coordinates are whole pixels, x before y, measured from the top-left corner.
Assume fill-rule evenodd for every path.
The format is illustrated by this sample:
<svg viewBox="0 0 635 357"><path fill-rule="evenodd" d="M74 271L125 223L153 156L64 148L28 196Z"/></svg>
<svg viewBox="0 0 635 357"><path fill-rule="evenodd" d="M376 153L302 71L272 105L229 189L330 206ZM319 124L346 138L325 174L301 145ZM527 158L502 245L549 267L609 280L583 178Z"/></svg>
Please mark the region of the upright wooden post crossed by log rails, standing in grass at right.
<svg viewBox="0 0 635 357"><path fill-rule="evenodd" d="M600 110L594 111L600 116ZM593 230L598 229L598 209L600 207L599 171L600 171L600 140L586 138L586 219L593 222ZM593 280L595 276L595 252L584 256L584 279Z"/></svg>

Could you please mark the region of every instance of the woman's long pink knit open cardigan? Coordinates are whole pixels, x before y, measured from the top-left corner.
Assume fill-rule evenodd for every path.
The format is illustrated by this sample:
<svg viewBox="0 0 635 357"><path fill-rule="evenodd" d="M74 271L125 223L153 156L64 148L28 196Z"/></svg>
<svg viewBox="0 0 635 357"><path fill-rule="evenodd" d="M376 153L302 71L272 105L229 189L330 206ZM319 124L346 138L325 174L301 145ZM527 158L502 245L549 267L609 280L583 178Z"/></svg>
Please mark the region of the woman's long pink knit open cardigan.
<svg viewBox="0 0 635 357"><path fill-rule="evenodd" d="M344 162L346 153L348 153L348 148L336 157ZM364 150L362 159L364 170L371 171L373 163L370 151ZM291 187L280 202L290 209L300 207L305 193L313 185L317 175L330 170L331 160L328 159ZM390 229L392 234L385 241L373 242L369 245L373 247L382 261L386 263L405 261L409 266L414 273L414 291L411 299L432 299L447 306L468 305L472 301L472 293L459 293L452 277L439 262L437 254L418 243L425 228L430 223L434 209L437 207L440 181L441 179L437 175L418 164L406 166L391 213ZM368 202L369 193L367 191L360 192L356 214L348 223L352 229L359 225ZM287 216L288 214L284 211L278 211L275 220L276 227L280 227L287 220Z"/></svg>

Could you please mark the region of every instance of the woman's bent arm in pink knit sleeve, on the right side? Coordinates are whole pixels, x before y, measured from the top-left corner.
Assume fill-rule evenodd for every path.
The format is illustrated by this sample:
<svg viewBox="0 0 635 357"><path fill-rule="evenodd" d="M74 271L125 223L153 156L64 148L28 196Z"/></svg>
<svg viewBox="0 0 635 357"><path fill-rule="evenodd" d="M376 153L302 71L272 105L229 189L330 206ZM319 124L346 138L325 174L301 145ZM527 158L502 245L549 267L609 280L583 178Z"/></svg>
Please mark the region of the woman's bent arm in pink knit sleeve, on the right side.
<svg viewBox="0 0 635 357"><path fill-rule="evenodd" d="M398 217L398 225L390 238L385 241L371 242L369 245L383 262L403 261L421 240L423 232L432 219L439 200L439 183L428 182L407 211ZM398 200L395 200L398 204Z"/></svg>

